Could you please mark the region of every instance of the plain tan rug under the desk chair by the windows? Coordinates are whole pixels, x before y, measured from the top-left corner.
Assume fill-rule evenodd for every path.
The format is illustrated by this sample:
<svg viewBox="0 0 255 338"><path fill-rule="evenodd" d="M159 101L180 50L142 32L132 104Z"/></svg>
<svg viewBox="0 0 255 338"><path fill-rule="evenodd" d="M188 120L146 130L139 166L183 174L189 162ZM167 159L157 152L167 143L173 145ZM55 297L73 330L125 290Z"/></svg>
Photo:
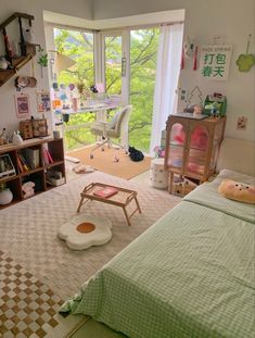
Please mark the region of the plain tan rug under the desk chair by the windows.
<svg viewBox="0 0 255 338"><path fill-rule="evenodd" d="M93 147L86 147L80 150L71 151L67 154L80 160L81 163L90 165L98 171L130 179L150 168L151 158L145 157L141 162L133 162L124 150L104 147L104 151L97 149L93 159L90 159L90 151ZM115 159L119 161L116 162Z"/></svg>

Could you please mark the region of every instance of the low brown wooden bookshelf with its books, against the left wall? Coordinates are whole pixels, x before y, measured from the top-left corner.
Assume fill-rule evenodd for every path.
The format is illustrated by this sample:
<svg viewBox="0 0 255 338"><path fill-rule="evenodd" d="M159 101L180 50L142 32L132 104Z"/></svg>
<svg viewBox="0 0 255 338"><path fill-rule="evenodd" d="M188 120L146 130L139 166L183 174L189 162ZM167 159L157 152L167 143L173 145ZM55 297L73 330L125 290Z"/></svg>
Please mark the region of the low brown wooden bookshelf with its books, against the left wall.
<svg viewBox="0 0 255 338"><path fill-rule="evenodd" d="M0 210L66 183L63 139L30 139L22 145L0 146L0 159L10 159L14 173L2 168L0 184L13 193L11 203ZM7 160L4 160L7 161ZM34 193L27 197L24 184L33 183Z"/></svg>

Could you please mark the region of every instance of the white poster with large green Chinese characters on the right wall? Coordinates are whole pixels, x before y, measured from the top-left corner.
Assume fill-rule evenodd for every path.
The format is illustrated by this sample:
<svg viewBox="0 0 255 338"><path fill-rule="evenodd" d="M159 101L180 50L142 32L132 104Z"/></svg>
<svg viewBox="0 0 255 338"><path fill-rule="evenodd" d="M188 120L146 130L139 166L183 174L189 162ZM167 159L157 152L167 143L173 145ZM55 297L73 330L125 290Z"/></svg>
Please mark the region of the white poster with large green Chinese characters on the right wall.
<svg viewBox="0 0 255 338"><path fill-rule="evenodd" d="M202 46L200 73L203 78L227 80L232 54L232 45Z"/></svg>

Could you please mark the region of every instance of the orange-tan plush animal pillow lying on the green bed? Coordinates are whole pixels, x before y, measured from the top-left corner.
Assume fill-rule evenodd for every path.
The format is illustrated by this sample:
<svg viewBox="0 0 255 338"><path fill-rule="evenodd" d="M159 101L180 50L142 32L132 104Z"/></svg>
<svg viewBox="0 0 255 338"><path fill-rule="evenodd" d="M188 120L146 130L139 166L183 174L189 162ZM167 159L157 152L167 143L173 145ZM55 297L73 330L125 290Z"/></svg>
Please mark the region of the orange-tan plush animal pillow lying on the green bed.
<svg viewBox="0 0 255 338"><path fill-rule="evenodd" d="M218 191L231 200L255 204L255 186L225 179L221 181Z"/></svg>

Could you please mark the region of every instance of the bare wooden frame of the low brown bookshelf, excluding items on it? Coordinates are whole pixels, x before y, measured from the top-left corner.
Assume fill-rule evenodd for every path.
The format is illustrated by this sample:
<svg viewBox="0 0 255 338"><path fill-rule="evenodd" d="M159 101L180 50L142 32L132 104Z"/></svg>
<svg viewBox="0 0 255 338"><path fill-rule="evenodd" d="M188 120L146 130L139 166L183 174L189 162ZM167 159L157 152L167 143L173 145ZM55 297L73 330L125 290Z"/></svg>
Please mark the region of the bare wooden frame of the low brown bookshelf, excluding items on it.
<svg viewBox="0 0 255 338"><path fill-rule="evenodd" d="M43 160L43 147L49 150L53 163L46 163ZM38 149L39 150L39 165L36 168L29 168L28 171L21 171L18 165L20 153L25 149ZM5 183L8 188L13 193L13 200L11 203L0 205L0 210L10 206L14 203L25 200L22 191L22 185L25 181L31 180L35 183L35 195L55 188L47 183L47 172L49 170L55 170L62 173L64 183L66 183L65 176L65 162L64 162L64 145L63 139L30 139L24 141L21 146L5 145L0 146L0 155L8 154L15 167L16 174L13 176L7 176L0 178L0 183Z"/></svg>

